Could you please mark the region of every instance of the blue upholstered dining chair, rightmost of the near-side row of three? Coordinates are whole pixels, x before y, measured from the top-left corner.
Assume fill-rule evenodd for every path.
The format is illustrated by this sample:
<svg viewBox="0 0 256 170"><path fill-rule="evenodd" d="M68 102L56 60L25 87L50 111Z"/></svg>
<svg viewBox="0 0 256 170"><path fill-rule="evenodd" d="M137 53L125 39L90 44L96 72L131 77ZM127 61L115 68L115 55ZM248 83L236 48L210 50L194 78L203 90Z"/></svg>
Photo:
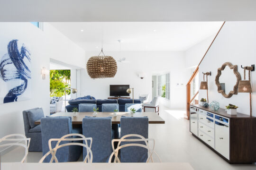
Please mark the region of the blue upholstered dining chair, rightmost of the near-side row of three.
<svg viewBox="0 0 256 170"><path fill-rule="evenodd" d="M121 117L121 137L128 134L137 134L148 138L148 118L147 117ZM127 144L127 142L122 142ZM121 145L122 145L121 143ZM145 144L145 142L137 142L138 144ZM131 146L122 148L120 150L121 162L146 162L147 149Z"/></svg>

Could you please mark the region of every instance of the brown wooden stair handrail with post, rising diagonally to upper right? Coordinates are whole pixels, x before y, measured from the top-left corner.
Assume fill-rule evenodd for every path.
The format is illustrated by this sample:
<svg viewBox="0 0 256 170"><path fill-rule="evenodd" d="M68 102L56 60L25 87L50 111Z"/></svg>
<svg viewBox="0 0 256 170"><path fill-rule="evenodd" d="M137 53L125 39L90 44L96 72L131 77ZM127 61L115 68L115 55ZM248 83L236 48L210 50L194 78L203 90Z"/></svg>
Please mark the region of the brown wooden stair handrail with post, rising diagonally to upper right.
<svg viewBox="0 0 256 170"><path fill-rule="evenodd" d="M204 57L206 56L207 52L209 51L211 45L212 45L213 42L215 41L216 37L218 36L218 34L219 34L221 28L224 26L224 24L225 24L225 21L223 22L222 26L220 26L218 33L215 35L214 39L213 39L212 42L210 43L210 46L208 47L207 51L204 53L204 55L203 55L203 57L202 57L200 63L198 64L197 68L196 68L195 71L193 72L192 76L190 77L190 79L189 79L189 81L188 81L188 83L187 83L187 85L186 85L186 91L187 91L187 92L186 92L186 112L187 112L187 119L189 119L190 103L193 101L193 100L191 100L191 98L190 98L190 97L191 97L191 96L190 96L190 90L191 90L191 89L190 89L190 86L191 86L191 83L192 83L193 79L195 78L195 76L198 74L199 66L200 66L202 60L203 60ZM195 96L196 96L196 95L194 95L194 97L195 97ZM193 99L194 99L194 98L193 98Z"/></svg>

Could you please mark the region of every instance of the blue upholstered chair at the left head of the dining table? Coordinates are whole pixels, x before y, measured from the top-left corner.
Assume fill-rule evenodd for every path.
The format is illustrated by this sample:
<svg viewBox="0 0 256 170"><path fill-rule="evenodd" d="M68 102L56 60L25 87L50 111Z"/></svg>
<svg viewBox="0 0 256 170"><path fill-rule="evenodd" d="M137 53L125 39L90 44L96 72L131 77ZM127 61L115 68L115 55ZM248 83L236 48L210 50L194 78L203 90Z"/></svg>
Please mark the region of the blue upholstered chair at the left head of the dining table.
<svg viewBox="0 0 256 170"><path fill-rule="evenodd" d="M42 152L41 125L35 125L35 121L45 117L42 108L34 108L23 111L25 136L30 138L29 152Z"/></svg>

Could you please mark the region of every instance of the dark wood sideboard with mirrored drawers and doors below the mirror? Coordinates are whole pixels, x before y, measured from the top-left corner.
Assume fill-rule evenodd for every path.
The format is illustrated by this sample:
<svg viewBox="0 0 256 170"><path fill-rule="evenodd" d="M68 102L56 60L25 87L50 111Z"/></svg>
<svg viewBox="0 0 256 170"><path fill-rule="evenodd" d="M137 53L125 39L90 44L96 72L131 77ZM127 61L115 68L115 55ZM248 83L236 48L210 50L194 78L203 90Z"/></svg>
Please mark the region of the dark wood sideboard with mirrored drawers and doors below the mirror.
<svg viewBox="0 0 256 170"><path fill-rule="evenodd" d="M190 132L229 163L256 162L256 117L190 105Z"/></svg>

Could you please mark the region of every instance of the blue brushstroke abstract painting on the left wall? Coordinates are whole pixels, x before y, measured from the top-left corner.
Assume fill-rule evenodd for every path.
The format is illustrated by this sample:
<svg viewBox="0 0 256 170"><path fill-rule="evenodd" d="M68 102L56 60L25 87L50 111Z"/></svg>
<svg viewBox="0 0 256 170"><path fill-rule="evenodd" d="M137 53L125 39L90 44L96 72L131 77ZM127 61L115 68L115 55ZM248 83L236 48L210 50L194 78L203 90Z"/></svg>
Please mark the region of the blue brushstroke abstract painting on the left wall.
<svg viewBox="0 0 256 170"><path fill-rule="evenodd" d="M31 98L30 51L24 43L18 47L18 40L11 40L4 49L6 54L0 59L0 103L28 100Z"/></svg>

